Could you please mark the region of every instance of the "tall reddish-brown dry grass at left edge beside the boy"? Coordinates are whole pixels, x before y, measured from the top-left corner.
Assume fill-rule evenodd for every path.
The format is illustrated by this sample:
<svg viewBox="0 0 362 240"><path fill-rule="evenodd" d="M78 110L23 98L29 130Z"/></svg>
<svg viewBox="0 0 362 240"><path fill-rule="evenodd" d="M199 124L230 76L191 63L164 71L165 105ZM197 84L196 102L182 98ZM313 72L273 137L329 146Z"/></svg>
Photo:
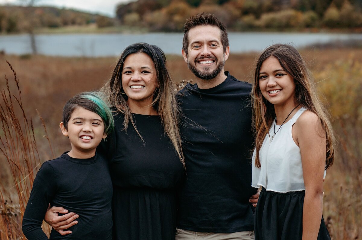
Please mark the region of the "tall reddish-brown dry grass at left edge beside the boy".
<svg viewBox="0 0 362 240"><path fill-rule="evenodd" d="M7 63L14 75L17 94L10 91L9 80L5 75L6 90L1 91L3 102L0 104L0 151L7 159L13 186L5 188L0 185L0 239L25 239L21 231L22 217L41 161L33 119L29 121L25 115L19 80L12 66ZM46 132L42 118L41 121ZM45 137L51 148L47 132ZM12 193L15 193L16 199L12 199ZM49 234L49 226L44 228Z"/></svg>

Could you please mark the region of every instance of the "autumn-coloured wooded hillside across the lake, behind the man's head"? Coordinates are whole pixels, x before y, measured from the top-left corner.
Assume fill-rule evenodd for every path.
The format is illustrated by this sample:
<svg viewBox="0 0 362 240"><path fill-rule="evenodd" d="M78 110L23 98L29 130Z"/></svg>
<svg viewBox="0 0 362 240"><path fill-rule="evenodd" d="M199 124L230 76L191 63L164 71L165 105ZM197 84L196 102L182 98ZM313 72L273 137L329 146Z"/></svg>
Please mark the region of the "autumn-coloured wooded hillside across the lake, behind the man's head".
<svg viewBox="0 0 362 240"><path fill-rule="evenodd" d="M362 0L138 0L117 6L123 25L182 31L198 12L215 14L229 30L362 27Z"/></svg>

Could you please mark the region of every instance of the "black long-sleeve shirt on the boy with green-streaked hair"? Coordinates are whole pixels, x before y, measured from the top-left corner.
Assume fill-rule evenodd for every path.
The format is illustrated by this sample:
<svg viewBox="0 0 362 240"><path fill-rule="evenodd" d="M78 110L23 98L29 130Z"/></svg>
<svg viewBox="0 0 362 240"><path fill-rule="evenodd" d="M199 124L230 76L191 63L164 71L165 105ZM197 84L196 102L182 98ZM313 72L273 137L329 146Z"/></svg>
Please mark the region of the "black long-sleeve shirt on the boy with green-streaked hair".
<svg viewBox="0 0 362 240"><path fill-rule="evenodd" d="M47 240L41 225L46 209L61 206L79 214L78 223L62 236L54 229L50 239L111 239L112 182L108 162L97 154L72 158L68 154L44 162L35 177L22 222L29 240Z"/></svg>

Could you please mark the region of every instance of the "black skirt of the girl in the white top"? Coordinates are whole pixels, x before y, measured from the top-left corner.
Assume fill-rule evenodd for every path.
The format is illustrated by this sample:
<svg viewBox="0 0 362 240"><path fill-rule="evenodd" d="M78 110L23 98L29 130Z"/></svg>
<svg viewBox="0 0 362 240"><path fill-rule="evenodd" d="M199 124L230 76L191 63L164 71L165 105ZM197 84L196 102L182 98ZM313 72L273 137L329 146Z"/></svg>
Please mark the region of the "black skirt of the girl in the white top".
<svg viewBox="0 0 362 240"><path fill-rule="evenodd" d="M262 188L254 215L255 240L301 240L305 191ZM331 240L322 216L317 240Z"/></svg>

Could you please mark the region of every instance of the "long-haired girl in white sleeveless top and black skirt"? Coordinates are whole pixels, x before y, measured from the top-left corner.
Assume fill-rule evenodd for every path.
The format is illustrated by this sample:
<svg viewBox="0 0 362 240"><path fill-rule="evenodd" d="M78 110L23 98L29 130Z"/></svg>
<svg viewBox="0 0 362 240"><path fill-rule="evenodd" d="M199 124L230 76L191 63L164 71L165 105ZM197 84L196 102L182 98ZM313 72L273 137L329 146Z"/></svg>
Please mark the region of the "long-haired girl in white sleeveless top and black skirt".
<svg viewBox="0 0 362 240"><path fill-rule="evenodd" d="M334 160L334 137L294 47L275 44L261 53L252 94L252 186L262 188L255 239L330 239L322 217L323 179Z"/></svg>

